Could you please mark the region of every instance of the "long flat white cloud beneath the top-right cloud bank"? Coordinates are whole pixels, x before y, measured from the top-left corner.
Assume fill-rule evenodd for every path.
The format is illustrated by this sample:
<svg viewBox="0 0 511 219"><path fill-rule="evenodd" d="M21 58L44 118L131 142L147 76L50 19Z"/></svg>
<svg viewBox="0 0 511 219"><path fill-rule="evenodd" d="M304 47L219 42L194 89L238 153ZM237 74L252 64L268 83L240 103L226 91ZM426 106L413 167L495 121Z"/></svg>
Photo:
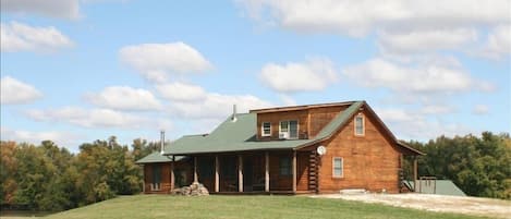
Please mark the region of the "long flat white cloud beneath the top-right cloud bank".
<svg viewBox="0 0 511 219"><path fill-rule="evenodd" d="M378 34L384 53L409 54L431 50L458 49L476 42L474 28L416 29L407 32L382 31Z"/></svg>

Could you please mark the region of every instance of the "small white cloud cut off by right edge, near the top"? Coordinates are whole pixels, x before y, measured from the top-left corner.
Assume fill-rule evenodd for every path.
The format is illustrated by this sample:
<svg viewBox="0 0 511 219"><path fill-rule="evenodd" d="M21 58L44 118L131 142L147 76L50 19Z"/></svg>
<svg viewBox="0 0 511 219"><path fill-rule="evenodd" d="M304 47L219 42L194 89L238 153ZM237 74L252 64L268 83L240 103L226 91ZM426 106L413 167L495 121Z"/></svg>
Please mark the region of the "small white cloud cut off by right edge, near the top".
<svg viewBox="0 0 511 219"><path fill-rule="evenodd" d="M511 53L511 25L501 25L491 29L482 56L500 59Z"/></svg>

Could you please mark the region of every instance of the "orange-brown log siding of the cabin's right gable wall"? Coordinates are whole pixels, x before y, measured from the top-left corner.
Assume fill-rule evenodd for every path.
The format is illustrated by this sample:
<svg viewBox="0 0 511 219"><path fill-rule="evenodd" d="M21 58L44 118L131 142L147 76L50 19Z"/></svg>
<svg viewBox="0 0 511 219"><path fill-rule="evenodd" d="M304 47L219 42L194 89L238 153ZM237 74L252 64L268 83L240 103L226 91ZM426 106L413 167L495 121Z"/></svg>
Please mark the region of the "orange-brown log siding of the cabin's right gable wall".
<svg viewBox="0 0 511 219"><path fill-rule="evenodd" d="M385 136L374 118L365 118L365 135L355 136L354 120L332 138L325 142L327 154L321 157L319 168L319 192L332 193L342 188L365 188L389 193L399 192L400 153ZM332 158L343 159L343 177L332 177Z"/></svg>

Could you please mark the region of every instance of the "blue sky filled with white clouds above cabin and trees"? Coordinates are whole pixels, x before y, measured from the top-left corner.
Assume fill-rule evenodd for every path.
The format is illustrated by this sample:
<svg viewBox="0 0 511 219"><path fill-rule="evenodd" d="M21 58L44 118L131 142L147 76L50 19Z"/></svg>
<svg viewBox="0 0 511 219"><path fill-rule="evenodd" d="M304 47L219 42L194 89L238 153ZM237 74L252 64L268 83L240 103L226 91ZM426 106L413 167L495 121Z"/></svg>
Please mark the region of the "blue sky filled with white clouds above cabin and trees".
<svg viewBox="0 0 511 219"><path fill-rule="evenodd" d="M402 139L511 132L511 1L2 0L1 139L73 150L366 100Z"/></svg>

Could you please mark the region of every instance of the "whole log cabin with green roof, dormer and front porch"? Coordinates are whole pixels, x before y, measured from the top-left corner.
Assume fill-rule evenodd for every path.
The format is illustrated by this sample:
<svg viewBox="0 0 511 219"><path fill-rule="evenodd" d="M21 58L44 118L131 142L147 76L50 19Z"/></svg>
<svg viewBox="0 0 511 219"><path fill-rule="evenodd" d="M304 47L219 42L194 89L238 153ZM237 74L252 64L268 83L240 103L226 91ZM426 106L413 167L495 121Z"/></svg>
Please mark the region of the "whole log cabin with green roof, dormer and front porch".
<svg viewBox="0 0 511 219"><path fill-rule="evenodd" d="M346 101L234 112L211 133L183 136L137 162L145 193L191 182L210 193L399 193L403 156L419 155L365 101Z"/></svg>

